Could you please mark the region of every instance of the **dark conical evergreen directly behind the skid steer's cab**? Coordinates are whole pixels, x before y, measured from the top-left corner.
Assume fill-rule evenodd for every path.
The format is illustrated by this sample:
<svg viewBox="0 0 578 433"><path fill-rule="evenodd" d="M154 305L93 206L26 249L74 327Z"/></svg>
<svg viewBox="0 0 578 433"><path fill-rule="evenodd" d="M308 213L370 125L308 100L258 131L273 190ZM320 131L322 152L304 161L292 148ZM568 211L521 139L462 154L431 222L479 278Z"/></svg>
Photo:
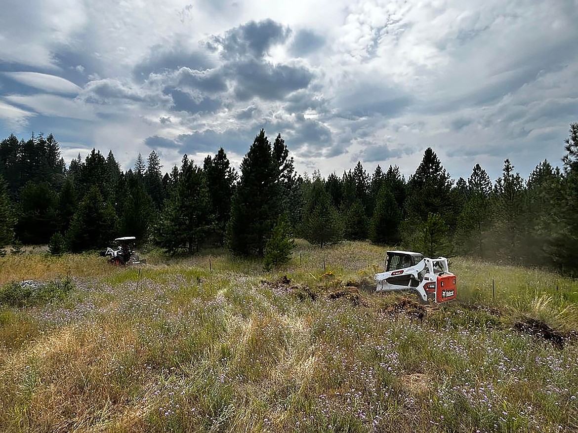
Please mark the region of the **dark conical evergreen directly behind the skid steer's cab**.
<svg viewBox="0 0 578 433"><path fill-rule="evenodd" d="M395 245L399 241L402 212L386 184L381 186L375 211L369 222L369 238L376 244Z"/></svg>

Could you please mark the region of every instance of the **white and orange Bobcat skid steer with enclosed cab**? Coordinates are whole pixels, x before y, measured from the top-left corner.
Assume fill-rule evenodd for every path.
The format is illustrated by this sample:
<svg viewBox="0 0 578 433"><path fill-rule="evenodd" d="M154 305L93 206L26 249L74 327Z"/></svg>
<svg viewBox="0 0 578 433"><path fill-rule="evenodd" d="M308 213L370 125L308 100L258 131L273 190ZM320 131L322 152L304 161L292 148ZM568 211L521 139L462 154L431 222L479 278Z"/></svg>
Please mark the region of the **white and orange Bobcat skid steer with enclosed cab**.
<svg viewBox="0 0 578 433"><path fill-rule="evenodd" d="M376 292L414 292L421 303L443 303L457 296L447 259L411 251L388 251L385 272L375 274Z"/></svg>

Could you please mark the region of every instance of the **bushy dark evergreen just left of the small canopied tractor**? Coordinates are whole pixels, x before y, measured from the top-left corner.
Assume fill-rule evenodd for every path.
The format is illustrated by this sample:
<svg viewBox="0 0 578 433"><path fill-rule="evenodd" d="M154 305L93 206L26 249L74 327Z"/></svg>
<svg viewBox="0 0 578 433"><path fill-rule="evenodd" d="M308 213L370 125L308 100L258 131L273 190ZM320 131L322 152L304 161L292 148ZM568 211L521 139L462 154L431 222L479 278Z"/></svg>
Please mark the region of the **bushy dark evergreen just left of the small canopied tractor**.
<svg viewBox="0 0 578 433"><path fill-rule="evenodd" d="M105 247L117 237L117 225L112 204L105 201L97 185L92 185L66 232L68 248L72 252L81 252Z"/></svg>

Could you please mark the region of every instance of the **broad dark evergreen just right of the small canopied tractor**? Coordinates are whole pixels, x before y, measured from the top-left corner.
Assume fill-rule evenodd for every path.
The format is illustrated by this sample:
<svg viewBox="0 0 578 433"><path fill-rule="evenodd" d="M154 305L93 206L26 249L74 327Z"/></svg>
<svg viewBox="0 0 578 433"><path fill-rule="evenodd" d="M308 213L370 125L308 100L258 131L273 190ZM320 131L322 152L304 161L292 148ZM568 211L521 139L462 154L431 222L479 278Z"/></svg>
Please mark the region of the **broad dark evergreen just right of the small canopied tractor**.
<svg viewBox="0 0 578 433"><path fill-rule="evenodd" d="M158 227L157 241L169 254L192 254L212 228L210 197L203 171L183 157L183 169L166 201Z"/></svg>

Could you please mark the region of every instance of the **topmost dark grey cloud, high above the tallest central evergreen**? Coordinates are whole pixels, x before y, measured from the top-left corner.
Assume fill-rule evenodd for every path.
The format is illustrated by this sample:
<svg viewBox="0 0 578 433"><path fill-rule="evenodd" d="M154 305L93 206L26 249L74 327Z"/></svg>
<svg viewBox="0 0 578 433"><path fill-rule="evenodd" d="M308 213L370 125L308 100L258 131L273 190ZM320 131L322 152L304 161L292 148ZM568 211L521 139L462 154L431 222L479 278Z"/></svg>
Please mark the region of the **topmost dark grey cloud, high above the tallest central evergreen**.
<svg viewBox="0 0 578 433"><path fill-rule="evenodd" d="M271 19L250 21L228 30L224 36L212 36L206 46L212 51L220 48L221 56L227 60L247 56L260 59L274 44L285 42L290 33L289 28Z"/></svg>

